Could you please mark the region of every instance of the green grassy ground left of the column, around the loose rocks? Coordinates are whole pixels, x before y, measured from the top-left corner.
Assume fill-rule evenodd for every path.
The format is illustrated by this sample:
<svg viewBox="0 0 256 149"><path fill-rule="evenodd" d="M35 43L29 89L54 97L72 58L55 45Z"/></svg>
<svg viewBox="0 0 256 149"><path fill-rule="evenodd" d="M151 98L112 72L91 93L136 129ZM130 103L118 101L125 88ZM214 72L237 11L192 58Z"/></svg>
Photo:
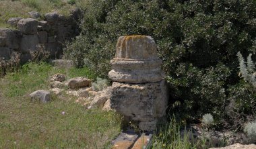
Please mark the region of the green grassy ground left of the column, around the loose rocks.
<svg viewBox="0 0 256 149"><path fill-rule="evenodd" d="M30 63L0 80L0 148L108 148L119 134L120 117L113 112L85 109L67 95L46 104L30 101L28 95L48 89L48 77L57 72L94 78L86 68Z"/></svg>

